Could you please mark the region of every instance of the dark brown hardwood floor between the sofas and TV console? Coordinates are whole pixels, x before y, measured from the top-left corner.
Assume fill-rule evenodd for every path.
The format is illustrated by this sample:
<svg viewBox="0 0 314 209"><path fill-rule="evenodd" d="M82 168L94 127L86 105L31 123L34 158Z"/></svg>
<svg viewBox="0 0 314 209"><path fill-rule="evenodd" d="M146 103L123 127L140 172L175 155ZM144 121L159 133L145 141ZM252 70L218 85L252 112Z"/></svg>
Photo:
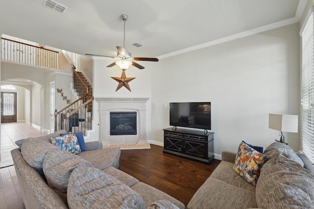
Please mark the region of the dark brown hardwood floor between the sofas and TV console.
<svg viewBox="0 0 314 209"><path fill-rule="evenodd" d="M119 169L180 200L185 206L220 163L197 163L162 153L163 147L121 150Z"/></svg>

